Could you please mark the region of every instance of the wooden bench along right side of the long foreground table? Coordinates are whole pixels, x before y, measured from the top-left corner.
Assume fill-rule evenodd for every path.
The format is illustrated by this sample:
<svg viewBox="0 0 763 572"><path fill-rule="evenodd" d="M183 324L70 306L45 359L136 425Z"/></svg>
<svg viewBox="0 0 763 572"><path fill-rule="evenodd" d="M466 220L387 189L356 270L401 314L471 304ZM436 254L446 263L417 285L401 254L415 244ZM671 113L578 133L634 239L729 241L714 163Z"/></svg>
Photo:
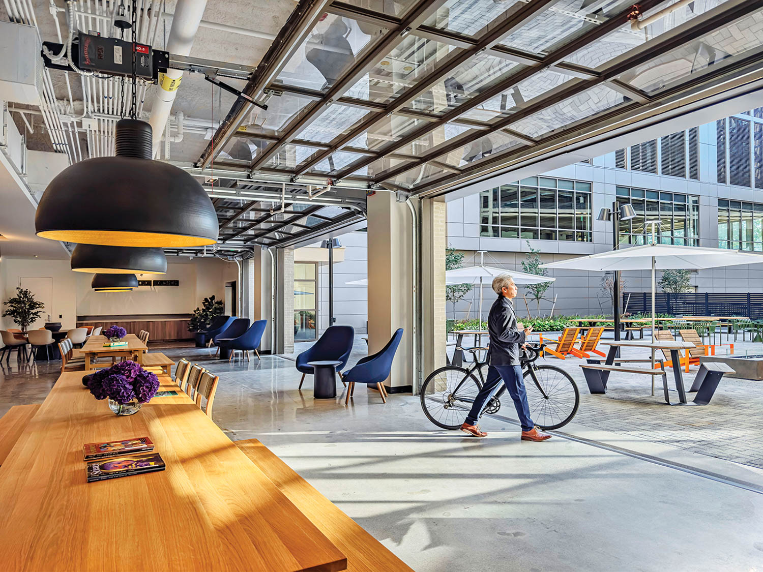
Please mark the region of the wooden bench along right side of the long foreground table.
<svg viewBox="0 0 763 572"><path fill-rule="evenodd" d="M275 487L347 557L349 572L412 572L410 567L381 542L315 490L307 480L295 473L257 439L235 443L272 480Z"/></svg>

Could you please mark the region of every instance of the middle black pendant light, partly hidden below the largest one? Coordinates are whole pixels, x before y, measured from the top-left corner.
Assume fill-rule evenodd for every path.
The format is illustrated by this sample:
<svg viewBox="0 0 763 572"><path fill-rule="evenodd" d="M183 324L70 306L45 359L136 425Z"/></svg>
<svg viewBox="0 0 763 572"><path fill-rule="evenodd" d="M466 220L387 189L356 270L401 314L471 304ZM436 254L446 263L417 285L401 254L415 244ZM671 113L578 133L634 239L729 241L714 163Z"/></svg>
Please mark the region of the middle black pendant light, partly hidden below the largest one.
<svg viewBox="0 0 763 572"><path fill-rule="evenodd" d="M165 274L167 258L162 249L140 246L78 244L72 252L74 272L92 274Z"/></svg>

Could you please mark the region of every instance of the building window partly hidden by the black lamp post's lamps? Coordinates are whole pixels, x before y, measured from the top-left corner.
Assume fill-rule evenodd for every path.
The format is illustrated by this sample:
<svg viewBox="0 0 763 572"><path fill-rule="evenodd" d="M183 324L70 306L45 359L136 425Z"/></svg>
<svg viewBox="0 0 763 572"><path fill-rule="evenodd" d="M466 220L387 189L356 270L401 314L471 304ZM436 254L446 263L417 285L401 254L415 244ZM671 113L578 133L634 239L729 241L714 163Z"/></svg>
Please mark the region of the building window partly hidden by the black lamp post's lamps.
<svg viewBox="0 0 763 572"><path fill-rule="evenodd" d="M617 202L633 204L636 217L620 221L620 244L645 244L645 223L659 220L662 244L697 246L700 237L699 197L692 194L617 187Z"/></svg>

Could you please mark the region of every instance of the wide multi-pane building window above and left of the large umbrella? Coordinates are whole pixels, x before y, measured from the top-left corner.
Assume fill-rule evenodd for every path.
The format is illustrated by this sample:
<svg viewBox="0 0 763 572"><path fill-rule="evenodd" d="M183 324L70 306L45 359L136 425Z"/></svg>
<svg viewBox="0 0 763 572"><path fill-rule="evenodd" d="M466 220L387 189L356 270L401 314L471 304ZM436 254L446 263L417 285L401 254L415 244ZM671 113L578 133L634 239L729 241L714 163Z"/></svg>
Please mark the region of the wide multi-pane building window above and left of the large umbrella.
<svg viewBox="0 0 763 572"><path fill-rule="evenodd" d="M591 183L528 177L480 194L480 236L591 242Z"/></svg>

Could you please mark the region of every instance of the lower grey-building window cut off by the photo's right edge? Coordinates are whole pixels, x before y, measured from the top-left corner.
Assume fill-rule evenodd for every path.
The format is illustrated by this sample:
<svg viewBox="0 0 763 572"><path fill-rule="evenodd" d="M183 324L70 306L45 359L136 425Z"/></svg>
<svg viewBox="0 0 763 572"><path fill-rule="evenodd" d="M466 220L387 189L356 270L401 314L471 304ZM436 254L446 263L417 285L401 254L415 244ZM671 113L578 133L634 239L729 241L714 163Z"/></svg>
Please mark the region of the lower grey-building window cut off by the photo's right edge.
<svg viewBox="0 0 763 572"><path fill-rule="evenodd" d="M763 252L763 204L718 199L718 246Z"/></svg>

